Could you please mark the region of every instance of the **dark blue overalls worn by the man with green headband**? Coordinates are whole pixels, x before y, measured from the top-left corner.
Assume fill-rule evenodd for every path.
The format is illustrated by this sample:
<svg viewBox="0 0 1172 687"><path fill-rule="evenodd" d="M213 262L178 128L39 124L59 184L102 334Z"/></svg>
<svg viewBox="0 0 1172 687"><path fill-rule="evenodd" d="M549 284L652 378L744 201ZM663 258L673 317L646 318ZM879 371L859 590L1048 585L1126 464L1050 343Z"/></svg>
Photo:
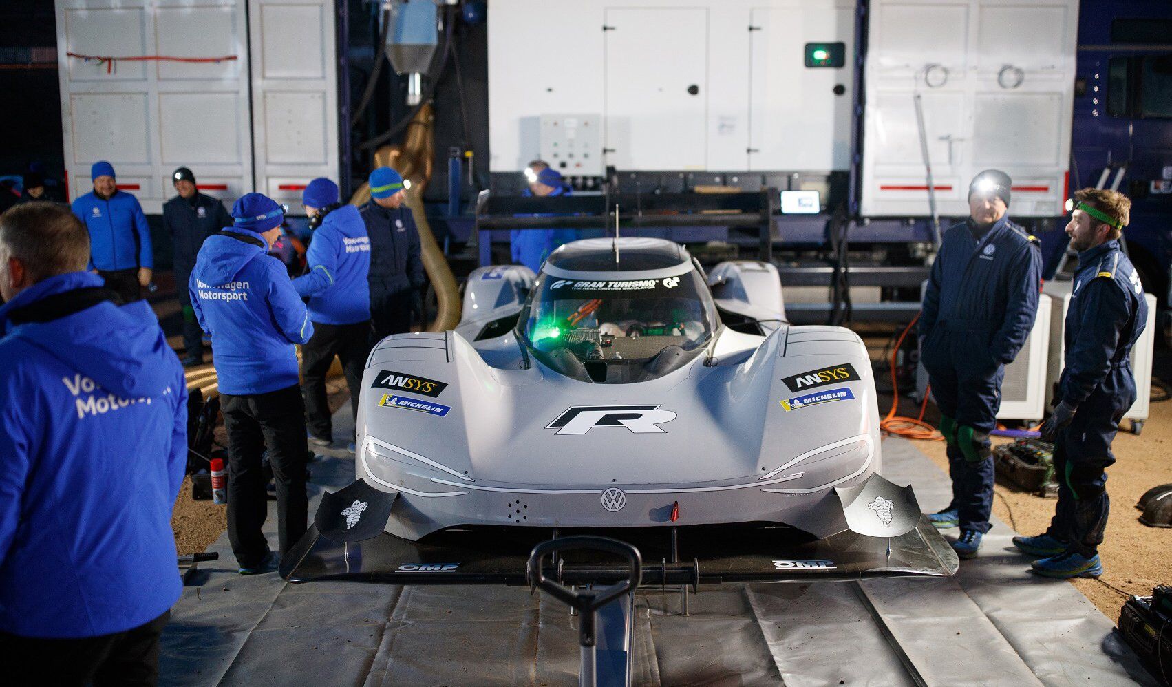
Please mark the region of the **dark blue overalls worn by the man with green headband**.
<svg viewBox="0 0 1172 687"><path fill-rule="evenodd" d="M1144 288L1119 242L1078 253L1058 379L1058 400L1078 409L1055 437L1058 504L1047 535L1086 558L1103 543L1111 504L1105 470L1115 463L1119 421L1136 402L1130 355L1146 322Z"/></svg>

